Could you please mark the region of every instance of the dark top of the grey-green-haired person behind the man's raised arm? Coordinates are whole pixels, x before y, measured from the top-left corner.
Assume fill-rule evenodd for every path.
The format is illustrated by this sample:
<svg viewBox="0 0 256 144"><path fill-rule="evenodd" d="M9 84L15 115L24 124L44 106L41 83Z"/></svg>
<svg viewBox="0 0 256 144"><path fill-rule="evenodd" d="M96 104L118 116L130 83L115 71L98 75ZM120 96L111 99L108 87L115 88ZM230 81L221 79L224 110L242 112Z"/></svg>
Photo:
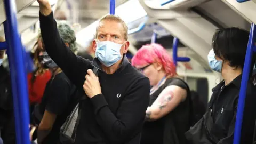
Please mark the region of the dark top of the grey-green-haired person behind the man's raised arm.
<svg viewBox="0 0 256 144"><path fill-rule="evenodd" d="M43 115L47 110L57 115L51 132L44 139L45 144L56 144L59 142L60 127L71 113L76 101L76 87L71 84L67 76L61 72L47 82L39 111Z"/></svg>

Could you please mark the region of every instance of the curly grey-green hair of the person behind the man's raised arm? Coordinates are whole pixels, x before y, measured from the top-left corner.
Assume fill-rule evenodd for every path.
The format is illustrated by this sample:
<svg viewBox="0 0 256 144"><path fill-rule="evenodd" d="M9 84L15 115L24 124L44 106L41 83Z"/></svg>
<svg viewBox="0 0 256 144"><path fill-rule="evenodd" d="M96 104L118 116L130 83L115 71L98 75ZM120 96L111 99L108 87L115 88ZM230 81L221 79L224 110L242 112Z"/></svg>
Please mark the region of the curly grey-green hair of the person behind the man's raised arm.
<svg viewBox="0 0 256 144"><path fill-rule="evenodd" d="M66 21L57 21L57 29L64 43L69 44L69 49L77 53L76 34L75 31L67 24ZM38 38L42 38L39 30ZM42 39L43 42L43 39Z"/></svg>

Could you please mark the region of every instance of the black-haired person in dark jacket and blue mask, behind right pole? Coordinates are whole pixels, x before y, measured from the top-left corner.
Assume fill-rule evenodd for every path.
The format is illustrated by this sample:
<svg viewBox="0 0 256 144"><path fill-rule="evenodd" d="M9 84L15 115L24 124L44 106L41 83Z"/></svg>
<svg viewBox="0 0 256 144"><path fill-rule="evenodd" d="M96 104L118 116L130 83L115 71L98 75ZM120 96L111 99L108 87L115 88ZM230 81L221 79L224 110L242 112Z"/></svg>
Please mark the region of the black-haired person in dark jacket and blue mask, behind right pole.
<svg viewBox="0 0 256 144"><path fill-rule="evenodd" d="M209 65L221 73L223 81L215 86L204 117L188 132L190 143L233 143L236 111L249 32L239 28L217 30L209 52ZM255 58L253 58L255 61ZM251 65L252 74L254 63ZM256 115L256 91L248 81L240 143L252 143Z"/></svg>

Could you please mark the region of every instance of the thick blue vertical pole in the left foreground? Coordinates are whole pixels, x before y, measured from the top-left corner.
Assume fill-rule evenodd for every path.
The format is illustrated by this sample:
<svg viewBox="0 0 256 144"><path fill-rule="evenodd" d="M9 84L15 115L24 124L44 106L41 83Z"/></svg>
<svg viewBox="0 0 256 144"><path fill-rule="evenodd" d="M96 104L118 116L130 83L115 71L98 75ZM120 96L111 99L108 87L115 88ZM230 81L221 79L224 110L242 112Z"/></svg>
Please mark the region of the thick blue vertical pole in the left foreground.
<svg viewBox="0 0 256 144"><path fill-rule="evenodd" d="M8 59L12 82L16 138L18 144L29 144L29 110L27 75L25 73L25 58L16 17L15 0L5 0L6 22L4 23L5 38L8 43Z"/></svg>

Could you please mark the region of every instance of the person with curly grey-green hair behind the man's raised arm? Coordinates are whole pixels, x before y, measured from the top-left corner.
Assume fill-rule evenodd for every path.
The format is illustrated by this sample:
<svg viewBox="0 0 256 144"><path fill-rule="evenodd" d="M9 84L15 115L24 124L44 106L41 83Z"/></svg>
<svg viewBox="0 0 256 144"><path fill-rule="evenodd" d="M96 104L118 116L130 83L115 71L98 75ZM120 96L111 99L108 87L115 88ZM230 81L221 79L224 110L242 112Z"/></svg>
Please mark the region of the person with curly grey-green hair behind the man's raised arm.
<svg viewBox="0 0 256 144"><path fill-rule="evenodd" d="M57 28L65 45L77 53L75 31L63 21L57 23ZM41 39L39 42L42 43L41 47L37 47L39 49L39 63L52 71L52 77L46 84L42 102L35 106L33 116L38 128L34 133L30 133L30 138L33 140L37 136L37 143L39 144L55 144L60 142L60 128L73 110L79 95L75 85L70 82L45 51L47 45L43 42L41 31L39 31L38 38Z"/></svg>

